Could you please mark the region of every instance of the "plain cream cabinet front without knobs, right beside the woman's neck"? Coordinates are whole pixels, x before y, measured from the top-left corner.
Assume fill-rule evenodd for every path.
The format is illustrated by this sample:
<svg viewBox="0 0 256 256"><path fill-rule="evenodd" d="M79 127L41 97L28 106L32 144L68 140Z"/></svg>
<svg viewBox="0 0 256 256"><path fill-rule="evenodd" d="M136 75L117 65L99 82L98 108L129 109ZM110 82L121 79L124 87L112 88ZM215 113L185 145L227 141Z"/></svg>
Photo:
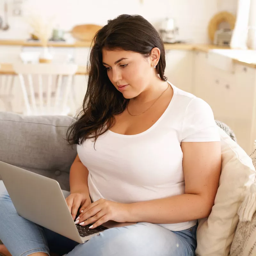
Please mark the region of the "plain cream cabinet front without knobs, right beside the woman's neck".
<svg viewBox="0 0 256 256"><path fill-rule="evenodd" d="M193 51L167 50L164 75L176 87L192 92Z"/></svg>

